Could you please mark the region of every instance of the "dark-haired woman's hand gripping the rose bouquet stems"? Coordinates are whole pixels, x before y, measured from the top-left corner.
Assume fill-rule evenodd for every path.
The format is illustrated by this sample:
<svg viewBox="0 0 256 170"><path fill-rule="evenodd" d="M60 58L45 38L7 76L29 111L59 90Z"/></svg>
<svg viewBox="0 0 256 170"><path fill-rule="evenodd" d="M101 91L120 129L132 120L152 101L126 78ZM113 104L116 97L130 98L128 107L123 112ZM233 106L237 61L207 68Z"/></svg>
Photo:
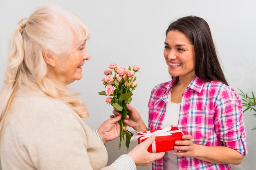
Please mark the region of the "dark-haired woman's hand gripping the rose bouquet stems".
<svg viewBox="0 0 256 170"><path fill-rule="evenodd" d="M129 104L126 104L126 108L127 110L131 113L130 116L126 116L124 123L130 127L132 127L135 131L147 131L148 128L147 126L144 124L143 120L141 119L141 116L139 115L139 113L137 112L136 109L134 109L133 107L131 107ZM113 114L115 116L118 116L120 113L117 109L114 108ZM110 118L113 118L115 116L110 116Z"/></svg>

